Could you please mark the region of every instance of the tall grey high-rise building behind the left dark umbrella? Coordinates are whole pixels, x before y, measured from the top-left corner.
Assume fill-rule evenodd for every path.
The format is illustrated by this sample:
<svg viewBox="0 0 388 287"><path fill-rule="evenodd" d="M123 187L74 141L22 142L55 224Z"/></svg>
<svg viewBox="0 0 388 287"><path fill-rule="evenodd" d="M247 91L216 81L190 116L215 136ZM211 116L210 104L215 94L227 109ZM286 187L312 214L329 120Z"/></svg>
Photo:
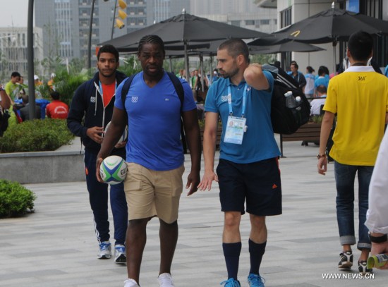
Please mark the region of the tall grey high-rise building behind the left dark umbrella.
<svg viewBox="0 0 388 287"><path fill-rule="evenodd" d="M92 9L94 1L94 8ZM86 63L90 35L90 14L93 10L91 50L92 66L99 43L126 35L152 23L190 11L190 0L124 0L127 17L120 19L124 27L114 27L117 0L35 0L35 25L42 28L44 56L62 59L83 59Z"/></svg>

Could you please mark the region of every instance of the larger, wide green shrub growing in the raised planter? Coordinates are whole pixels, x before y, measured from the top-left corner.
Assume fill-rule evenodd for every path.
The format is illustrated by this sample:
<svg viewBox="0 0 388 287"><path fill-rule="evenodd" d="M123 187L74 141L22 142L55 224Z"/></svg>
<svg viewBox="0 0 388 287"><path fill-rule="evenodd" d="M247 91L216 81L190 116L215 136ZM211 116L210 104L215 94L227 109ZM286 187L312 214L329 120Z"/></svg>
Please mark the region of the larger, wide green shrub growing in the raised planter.
<svg viewBox="0 0 388 287"><path fill-rule="evenodd" d="M0 138L0 152L51 151L68 145L73 138L61 119L23 121L10 126Z"/></svg>

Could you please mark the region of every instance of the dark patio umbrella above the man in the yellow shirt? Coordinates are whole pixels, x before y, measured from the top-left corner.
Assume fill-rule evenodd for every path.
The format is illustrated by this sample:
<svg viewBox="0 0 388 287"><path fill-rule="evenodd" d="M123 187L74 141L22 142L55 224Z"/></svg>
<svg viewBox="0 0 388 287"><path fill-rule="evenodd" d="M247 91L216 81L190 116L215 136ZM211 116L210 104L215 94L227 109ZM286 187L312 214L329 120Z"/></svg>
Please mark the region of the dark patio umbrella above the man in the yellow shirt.
<svg viewBox="0 0 388 287"><path fill-rule="evenodd" d="M334 73L336 62L336 45L338 41L346 41L348 37L363 30L370 34L388 33L388 21L379 20L369 16L332 8L305 18L301 21L272 33L278 42L285 39L297 40L310 44L333 43ZM274 39L272 39L274 41Z"/></svg>

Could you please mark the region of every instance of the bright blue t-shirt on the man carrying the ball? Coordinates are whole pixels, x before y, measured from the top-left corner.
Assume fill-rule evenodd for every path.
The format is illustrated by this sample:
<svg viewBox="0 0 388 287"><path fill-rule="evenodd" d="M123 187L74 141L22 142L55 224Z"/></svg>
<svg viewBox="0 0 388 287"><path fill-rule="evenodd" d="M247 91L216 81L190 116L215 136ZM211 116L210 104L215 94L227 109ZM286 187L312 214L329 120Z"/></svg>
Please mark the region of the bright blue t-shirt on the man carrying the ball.
<svg viewBox="0 0 388 287"><path fill-rule="evenodd" d="M185 92L182 111L196 109L193 92L186 80L180 79ZM117 87L121 94L123 83ZM114 106L123 109L121 97ZM157 85L148 87L143 72L133 78L126 95L128 114L128 142L126 161L134 162L154 171L169 171L183 164L181 143L181 101L169 75Z"/></svg>

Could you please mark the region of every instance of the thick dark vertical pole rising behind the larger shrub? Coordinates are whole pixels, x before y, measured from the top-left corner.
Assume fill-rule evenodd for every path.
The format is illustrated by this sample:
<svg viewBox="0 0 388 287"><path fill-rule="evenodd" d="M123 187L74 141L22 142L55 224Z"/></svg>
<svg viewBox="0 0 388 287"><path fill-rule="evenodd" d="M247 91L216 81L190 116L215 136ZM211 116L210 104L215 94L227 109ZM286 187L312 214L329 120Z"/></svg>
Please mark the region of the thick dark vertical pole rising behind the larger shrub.
<svg viewBox="0 0 388 287"><path fill-rule="evenodd" d="M35 85L34 85L34 0L28 0L27 18L27 62L28 62L28 102L30 103L30 118L35 114Z"/></svg>

